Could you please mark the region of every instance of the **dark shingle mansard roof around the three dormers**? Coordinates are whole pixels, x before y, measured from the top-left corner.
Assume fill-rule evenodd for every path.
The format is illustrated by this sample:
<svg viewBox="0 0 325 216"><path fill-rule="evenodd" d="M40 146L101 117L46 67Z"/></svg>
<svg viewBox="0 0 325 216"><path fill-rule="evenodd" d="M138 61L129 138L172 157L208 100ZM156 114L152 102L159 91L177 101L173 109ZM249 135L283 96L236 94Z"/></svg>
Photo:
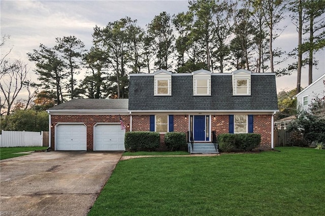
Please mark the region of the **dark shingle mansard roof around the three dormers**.
<svg viewBox="0 0 325 216"><path fill-rule="evenodd" d="M233 96L232 76L211 76L211 96L193 96L192 76L172 76L172 96L153 96L153 76L130 76L128 109L276 111L275 76L252 75L251 96Z"/></svg>

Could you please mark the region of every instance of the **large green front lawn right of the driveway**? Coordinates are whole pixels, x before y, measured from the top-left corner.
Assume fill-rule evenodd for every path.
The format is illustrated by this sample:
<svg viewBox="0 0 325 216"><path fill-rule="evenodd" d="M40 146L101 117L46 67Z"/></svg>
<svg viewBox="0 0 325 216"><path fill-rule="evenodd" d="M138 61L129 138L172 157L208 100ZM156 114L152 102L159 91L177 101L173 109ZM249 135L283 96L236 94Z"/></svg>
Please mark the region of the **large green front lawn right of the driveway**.
<svg viewBox="0 0 325 216"><path fill-rule="evenodd" d="M323 215L325 151L120 161L88 215Z"/></svg>

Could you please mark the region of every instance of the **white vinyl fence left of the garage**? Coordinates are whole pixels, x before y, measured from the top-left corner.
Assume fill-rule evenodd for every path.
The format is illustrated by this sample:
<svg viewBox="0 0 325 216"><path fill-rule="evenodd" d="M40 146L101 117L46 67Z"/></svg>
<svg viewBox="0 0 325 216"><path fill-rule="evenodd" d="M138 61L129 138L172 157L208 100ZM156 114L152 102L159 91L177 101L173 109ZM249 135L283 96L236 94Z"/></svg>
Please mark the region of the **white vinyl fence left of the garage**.
<svg viewBox="0 0 325 216"><path fill-rule="evenodd" d="M43 146L43 131L5 131L0 135L0 147Z"/></svg>

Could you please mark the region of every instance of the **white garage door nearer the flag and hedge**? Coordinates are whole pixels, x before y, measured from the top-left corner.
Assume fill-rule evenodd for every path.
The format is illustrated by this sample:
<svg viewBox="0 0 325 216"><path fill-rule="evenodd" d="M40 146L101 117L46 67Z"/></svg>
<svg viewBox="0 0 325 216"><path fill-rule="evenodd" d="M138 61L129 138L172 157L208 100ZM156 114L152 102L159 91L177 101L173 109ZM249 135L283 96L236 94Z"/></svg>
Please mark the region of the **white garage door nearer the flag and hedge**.
<svg viewBox="0 0 325 216"><path fill-rule="evenodd" d="M124 151L125 130L120 124L99 124L95 126L95 151Z"/></svg>

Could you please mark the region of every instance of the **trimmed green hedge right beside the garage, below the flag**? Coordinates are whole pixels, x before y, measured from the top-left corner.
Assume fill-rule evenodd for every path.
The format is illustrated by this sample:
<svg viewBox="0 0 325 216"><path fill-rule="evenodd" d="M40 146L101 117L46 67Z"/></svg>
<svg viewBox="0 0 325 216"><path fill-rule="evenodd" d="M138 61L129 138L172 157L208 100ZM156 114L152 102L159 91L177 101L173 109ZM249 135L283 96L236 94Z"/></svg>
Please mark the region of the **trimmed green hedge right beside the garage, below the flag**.
<svg viewBox="0 0 325 216"><path fill-rule="evenodd" d="M129 151L154 151L160 145L160 135L157 132L132 131L125 133L125 149Z"/></svg>

